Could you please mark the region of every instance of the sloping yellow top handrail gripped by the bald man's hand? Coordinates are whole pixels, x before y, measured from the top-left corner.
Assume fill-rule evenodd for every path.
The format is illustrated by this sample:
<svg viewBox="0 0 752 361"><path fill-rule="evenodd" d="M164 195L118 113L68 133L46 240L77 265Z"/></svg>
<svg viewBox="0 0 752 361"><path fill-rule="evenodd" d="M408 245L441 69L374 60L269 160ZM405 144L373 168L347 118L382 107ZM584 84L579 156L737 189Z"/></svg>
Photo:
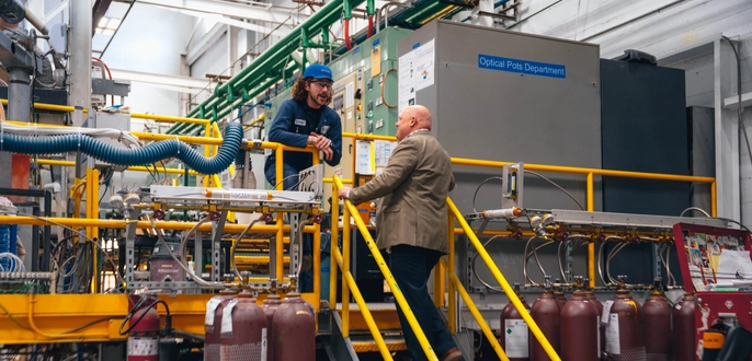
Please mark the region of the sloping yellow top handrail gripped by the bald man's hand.
<svg viewBox="0 0 752 361"><path fill-rule="evenodd" d="M334 179L335 189L342 188L342 182L340 182L340 177L335 175L332 178ZM425 334L423 333L423 329L421 328L420 324L418 324L418 319L415 319L415 316L412 314L412 310L410 308L408 301L405 299L405 295L402 294L402 290L400 290L399 286L397 286L397 282L395 281L394 276L391 276L391 271L389 271L389 267L387 267L386 261L384 260L384 257L381 257L381 253L376 247L376 243L374 242L374 238L371 236L368 229L366 228L365 223L363 223L363 220L360 217L357 217L357 214L358 214L357 209L347 199L344 200L344 206L346 207L346 210L350 213L355 214L355 217L353 217L352 219L355 220L355 224L357 225L357 229L361 231L361 234L363 234L363 238L365 240L365 244L368 246L371 254L374 256L374 259L376 260L376 265L378 265L378 268L381 270L381 275L384 275L384 278L387 280L389 288L391 288L391 293L395 295L395 299L397 300L397 303L399 304L400 310L402 310L402 313L405 314L405 318L408 319L408 324L410 324L410 327L415 333L415 338L418 338L418 342L420 343L421 348L423 348L423 351L425 352L426 358L431 361L438 360L438 358L436 358L436 352L433 351L431 343L425 338ZM349 228L350 218L349 217L343 218L342 223L343 223L343 226ZM343 231L343 232L345 232L345 231ZM345 242L344 240L347 237L349 237L349 234L346 234L346 233L344 233L342 235L342 245L343 246L344 246L344 242ZM343 271L344 270L346 270L346 269L343 269ZM344 287L344 284L343 284L343 287ZM343 289L342 290L342 310L344 310L344 306L347 302L349 302L349 300L345 299L344 289ZM343 319L343 323L344 323L344 319ZM344 330L343 330L343 333L344 333Z"/></svg>

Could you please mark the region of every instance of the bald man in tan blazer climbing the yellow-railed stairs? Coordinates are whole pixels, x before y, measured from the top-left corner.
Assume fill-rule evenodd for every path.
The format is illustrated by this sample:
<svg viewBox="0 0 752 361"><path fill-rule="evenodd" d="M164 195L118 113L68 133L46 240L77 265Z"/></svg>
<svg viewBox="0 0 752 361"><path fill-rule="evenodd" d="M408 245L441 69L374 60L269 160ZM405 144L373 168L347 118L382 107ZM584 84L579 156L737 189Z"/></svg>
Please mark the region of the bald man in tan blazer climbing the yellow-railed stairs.
<svg viewBox="0 0 752 361"><path fill-rule="evenodd" d="M376 244L390 253L389 268L436 356L458 361L462 353L426 287L431 270L449 249L445 201L455 185L449 154L431 135L431 113L422 105L399 115L397 139L384 173L361 187L343 187L338 196L356 205L384 197L376 213ZM399 304L397 311L412 359L426 360Z"/></svg>

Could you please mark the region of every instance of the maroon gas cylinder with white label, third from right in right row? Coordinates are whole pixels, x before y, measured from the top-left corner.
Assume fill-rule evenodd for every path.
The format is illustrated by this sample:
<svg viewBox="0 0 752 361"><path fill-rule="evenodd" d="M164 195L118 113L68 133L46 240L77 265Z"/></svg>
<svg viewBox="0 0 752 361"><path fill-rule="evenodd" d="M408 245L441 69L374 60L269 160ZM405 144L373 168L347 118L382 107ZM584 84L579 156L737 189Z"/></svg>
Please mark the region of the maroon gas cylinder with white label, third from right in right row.
<svg viewBox="0 0 752 361"><path fill-rule="evenodd" d="M606 352L614 361L643 361L645 342L639 321L640 306L626 289L626 277L619 276L619 279L620 287L607 315Z"/></svg>

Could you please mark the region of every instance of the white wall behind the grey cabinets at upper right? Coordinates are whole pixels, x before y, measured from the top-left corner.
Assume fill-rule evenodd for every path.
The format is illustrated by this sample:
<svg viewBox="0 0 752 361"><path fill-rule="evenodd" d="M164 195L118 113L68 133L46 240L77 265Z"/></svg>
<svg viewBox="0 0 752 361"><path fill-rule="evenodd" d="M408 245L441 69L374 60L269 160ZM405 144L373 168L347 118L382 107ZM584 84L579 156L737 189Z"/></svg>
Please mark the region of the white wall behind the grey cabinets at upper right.
<svg viewBox="0 0 752 361"><path fill-rule="evenodd" d="M513 31L600 44L603 58L614 58L625 49L638 49L660 59L717 34L741 38L742 93L752 91L752 1L749 0L529 0L523 2L521 21L516 24L506 21L504 25ZM711 55L699 55L674 67L686 71L687 106L713 107ZM750 135L751 113L744 112ZM739 144L741 217L742 222L752 225L752 163L741 131Z"/></svg>

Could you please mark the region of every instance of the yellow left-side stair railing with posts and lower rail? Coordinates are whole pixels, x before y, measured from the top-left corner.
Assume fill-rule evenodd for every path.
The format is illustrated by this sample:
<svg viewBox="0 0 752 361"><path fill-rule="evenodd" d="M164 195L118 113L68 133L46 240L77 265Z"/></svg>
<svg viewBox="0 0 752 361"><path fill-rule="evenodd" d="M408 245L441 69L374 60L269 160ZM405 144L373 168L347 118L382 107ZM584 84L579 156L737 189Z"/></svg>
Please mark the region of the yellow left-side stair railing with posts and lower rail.
<svg viewBox="0 0 752 361"><path fill-rule="evenodd" d="M340 180L339 176L333 176L332 179L334 180L333 188L332 188L332 197L335 197L337 190L342 188L342 182ZM337 206L334 206L337 205ZM389 267L387 267L386 261L384 260L384 257L381 257L381 253L378 251L376 247L376 243L374 242L373 237L371 236L371 233L368 232L368 229L366 228L365 223L363 223L363 220L357 217L357 209L355 209L355 206L353 203L345 199L344 200L344 209L343 209L343 218L342 218L342 256L340 255L340 260L342 263L332 263L332 268L330 269L330 289L329 289L329 298L330 298L330 303L331 304L337 304L337 271L334 266L340 266L342 269L342 275L343 279L346 279L346 273L350 271L350 214L354 214L355 217L352 217L353 220L355 220L355 224L357 225L357 229L361 231L361 234L363 234L363 237L365 240L366 245L368 246L368 249L371 251L371 254L374 256L374 259L376 261L376 265L378 265L378 268L381 270L381 275L384 275L384 278L386 279L387 283L389 284L389 288L391 289L392 294L395 295L395 300L397 300L397 303L399 304L400 310L402 310L402 313L405 314L405 318L407 318L408 324L410 324L410 327L415 334L415 338L418 338L418 342L420 343L421 348L425 352L425 356L428 357L429 360L438 360L436 358L436 353L434 352L433 348L431 347L431 343L429 342L428 338L425 337L425 334L423 333L423 329L421 328L420 324L418 324L418 319L415 319L415 316L412 313L412 308L410 308L410 305L408 304L408 301L405 299L405 295L402 294L402 291L400 290L399 286L395 281L395 278L391 276L391 271L389 271ZM337 211L337 213L333 213ZM339 202L338 201L332 201L332 214L339 214ZM335 222L337 218L332 219L332 222ZM339 226L332 226L332 230L337 230ZM332 233L332 240L335 238L337 234ZM337 258L337 255L339 255L339 247L337 246L337 241L333 241L331 243L332 245L332 255L335 255L333 259ZM342 283L342 335L344 337L347 337L350 335L350 288L353 287L353 290L356 290L355 282L343 282ZM356 291L355 291L356 292ZM353 296L356 296L356 293L353 292ZM357 293L360 295L360 292ZM364 318L366 318L366 322L368 324L368 329L371 329L374 339L376 340L376 343L378 345L378 349L381 352L381 354L389 353L386 343L384 342L384 339L380 337L380 333L378 331L378 328L376 328L375 323L373 322L373 317L371 317L371 314L366 311L364 312L363 310L367 310L365 307L365 302L363 302L363 305L361 305L361 302L358 302L358 306L361 307L361 312L363 313ZM367 314L367 316L366 316ZM371 317L371 321L368 322L368 317ZM373 323L373 325L372 325ZM389 357L391 359L391 357Z"/></svg>

